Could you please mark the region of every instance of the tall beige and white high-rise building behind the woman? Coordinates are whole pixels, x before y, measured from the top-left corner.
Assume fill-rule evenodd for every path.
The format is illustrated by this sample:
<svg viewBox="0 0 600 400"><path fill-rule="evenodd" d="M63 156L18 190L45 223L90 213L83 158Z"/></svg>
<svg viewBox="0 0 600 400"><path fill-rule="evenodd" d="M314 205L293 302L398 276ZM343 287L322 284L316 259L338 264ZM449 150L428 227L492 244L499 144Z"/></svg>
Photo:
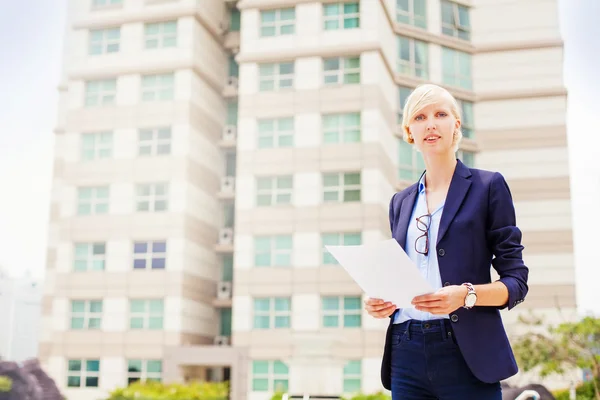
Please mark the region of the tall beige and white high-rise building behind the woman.
<svg viewBox="0 0 600 400"><path fill-rule="evenodd" d="M531 274L509 330L574 310L556 0L68 3L40 346L68 398L379 390L387 321L323 246L390 237L424 82L460 101L457 156L512 190Z"/></svg>

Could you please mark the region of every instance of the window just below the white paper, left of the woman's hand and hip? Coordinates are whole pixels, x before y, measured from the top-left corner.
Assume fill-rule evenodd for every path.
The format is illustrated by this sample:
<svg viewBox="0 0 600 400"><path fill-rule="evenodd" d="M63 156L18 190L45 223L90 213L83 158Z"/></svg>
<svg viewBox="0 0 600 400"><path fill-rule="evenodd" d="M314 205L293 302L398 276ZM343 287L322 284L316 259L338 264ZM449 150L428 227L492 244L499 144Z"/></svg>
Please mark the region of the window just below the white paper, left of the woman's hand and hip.
<svg viewBox="0 0 600 400"><path fill-rule="evenodd" d="M325 328L358 328L361 326L359 296L325 296L321 298Z"/></svg>

